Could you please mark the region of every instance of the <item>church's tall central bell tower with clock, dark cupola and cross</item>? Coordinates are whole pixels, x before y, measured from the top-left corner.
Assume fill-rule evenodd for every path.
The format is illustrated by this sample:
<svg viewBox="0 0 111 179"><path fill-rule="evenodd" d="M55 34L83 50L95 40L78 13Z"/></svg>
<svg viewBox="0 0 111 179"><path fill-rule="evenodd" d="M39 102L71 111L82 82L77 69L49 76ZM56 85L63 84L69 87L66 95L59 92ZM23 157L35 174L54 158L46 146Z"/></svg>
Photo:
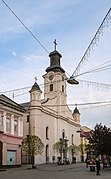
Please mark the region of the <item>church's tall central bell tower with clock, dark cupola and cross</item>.
<svg viewBox="0 0 111 179"><path fill-rule="evenodd" d="M57 43L54 41L54 51L49 54L50 66L46 68L44 78L44 98L57 98L58 105L66 104L66 74L61 67L62 55L56 50Z"/></svg>

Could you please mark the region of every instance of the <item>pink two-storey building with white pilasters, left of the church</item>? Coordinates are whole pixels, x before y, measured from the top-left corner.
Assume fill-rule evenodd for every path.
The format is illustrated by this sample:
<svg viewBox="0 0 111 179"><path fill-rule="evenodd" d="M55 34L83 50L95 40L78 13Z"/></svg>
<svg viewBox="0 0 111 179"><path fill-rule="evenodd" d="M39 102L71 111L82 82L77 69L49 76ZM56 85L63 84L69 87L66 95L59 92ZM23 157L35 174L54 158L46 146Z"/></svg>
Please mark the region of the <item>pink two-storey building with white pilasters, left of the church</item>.
<svg viewBox="0 0 111 179"><path fill-rule="evenodd" d="M21 165L24 108L0 95L0 168Z"/></svg>

